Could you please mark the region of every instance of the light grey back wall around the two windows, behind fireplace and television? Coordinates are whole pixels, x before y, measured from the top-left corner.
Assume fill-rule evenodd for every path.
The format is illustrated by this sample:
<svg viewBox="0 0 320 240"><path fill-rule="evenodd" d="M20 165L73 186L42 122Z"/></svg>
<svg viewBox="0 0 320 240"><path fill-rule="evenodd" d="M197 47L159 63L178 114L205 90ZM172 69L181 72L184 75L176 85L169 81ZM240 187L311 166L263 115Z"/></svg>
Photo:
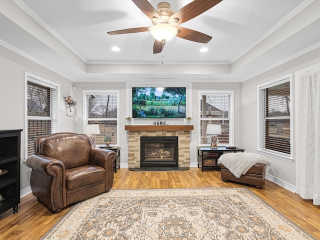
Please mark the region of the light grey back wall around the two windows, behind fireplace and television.
<svg viewBox="0 0 320 240"><path fill-rule="evenodd" d="M156 84L156 82L153 82ZM161 84L161 82L159 82ZM81 133L82 126L82 103L80 99L82 98L82 90L119 90L119 145L121 147L121 159L120 167L127 167L128 164L128 136L127 131L124 130L124 118L127 115L126 112L126 83L123 82L74 82L75 91L74 96L77 99L77 121L74 122L74 131ZM192 124L194 125L194 130L191 131L190 136L190 163L191 166L196 166L197 154L196 147L198 146L198 91L204 90L233 90L234 91L234 144L236 146L242 147L242 107L241 107L241 83L214 83L214 82L196 82L191 83L191 117ZM152 124L153 119L149 122L137 122L135 124ZM183 124L183 121L174 121L172 119L166 120L167 124Z"/></svg>

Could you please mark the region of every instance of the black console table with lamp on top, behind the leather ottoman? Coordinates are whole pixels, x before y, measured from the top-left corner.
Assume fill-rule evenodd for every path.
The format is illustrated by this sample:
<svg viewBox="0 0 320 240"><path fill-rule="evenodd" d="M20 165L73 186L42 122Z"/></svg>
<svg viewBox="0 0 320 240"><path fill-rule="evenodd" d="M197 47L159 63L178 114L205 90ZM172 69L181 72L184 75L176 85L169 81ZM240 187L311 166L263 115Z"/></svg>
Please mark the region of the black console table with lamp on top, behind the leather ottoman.
<svg viewBox="0 0 320 240"><path fill-rule="evenodd" d="M206 147L198 146L197 147L198 167L201 166L202 171L204 166L220 168L218 164L218 159L220 155L222 155L224 152L237 152L237 151L243 152L244 149L239 147L227 148L225 146L218 146L217 148L211 148L207 146Z"/></svg>

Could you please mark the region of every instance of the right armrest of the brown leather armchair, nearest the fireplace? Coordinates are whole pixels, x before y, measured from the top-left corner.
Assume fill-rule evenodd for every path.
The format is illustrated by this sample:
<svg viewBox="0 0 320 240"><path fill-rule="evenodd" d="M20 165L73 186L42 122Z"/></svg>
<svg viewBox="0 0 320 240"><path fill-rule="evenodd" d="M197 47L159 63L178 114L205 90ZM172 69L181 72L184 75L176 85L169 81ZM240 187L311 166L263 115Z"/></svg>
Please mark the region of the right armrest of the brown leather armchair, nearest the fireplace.
<svg viewBox="0 0 320 240"><path fill-rule="evenodd" d="M101 166L105 169L105 192L113 185L113 168L116 154L109 149L91 148L89 164Z"/></svg>

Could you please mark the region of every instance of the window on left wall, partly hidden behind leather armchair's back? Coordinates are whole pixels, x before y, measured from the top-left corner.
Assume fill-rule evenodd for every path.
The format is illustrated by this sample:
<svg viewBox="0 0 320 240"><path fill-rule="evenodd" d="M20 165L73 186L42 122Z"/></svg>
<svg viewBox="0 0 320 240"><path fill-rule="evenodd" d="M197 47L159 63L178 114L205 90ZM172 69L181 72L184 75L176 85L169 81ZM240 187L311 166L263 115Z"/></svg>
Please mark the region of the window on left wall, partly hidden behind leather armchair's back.
<svg viewBox="0 0 320 240"><path fill-rule="evenodd" d="M58 84L26 73L26 147L33 154L34 138L58 131Z"/></svg>

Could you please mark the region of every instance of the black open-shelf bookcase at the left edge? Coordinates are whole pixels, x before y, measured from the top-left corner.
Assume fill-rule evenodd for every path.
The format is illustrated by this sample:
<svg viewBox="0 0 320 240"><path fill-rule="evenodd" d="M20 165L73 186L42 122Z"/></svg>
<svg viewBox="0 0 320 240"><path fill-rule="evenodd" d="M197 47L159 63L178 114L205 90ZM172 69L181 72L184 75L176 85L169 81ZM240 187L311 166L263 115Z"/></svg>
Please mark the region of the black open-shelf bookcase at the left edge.
<svg viewBox="0 0 320 240"><path fill-rule="evenodd" d="M20 135L22 129L0 129L0 214L20 203Z"/></svg>

